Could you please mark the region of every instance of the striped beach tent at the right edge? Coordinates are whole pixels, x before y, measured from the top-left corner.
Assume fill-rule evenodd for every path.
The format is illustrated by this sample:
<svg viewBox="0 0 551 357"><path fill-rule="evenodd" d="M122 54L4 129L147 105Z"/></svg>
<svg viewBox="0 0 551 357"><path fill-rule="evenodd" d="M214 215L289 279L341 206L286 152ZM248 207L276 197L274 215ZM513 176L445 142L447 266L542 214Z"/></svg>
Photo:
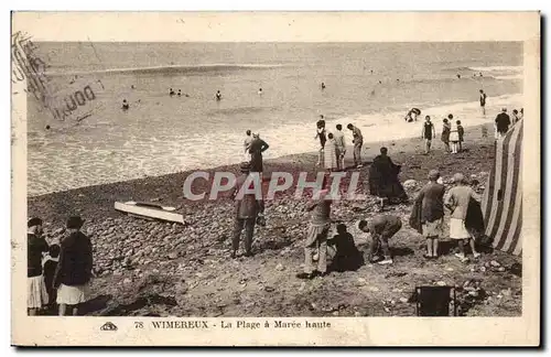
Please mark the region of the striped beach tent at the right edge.
<svg viewBox="0 0 551 357"><path fill-rule="evenodd" d="M486 236L494 248L516 256L522 252L522 121L496 142L482 204Z"/></svg>

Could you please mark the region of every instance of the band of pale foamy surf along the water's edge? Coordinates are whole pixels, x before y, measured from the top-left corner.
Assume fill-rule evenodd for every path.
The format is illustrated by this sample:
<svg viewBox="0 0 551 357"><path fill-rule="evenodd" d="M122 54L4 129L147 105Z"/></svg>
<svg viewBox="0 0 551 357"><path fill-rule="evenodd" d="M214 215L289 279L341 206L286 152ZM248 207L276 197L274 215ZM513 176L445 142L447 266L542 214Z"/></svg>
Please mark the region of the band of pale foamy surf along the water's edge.
<svg viewBox="0 0 551 357"><path fill-rule="evenodd" d="M389 111L371 115L355 115L349 117L326 118L328 131L335 125L344 127L347 144L352 144L350 131L346 125L356 125L364 134L366 144L380 142L390 143L395 140L417 138L425 115L433 118L436 132L442 128L442 118L449 113L454 120L461 120L464 127L472 127L491 121L501 107L520 108L520 95L504 95L488 99L487 116L483 117L478 102L455 102L422 109L420 121L408 123L403 120L404 112ZM288 154L312 152L318 149L314 139L315 128L304 125L288 125L267 128L260 132L270 149L264 159L273 159ZM224 136L176 136L172 140L150 140L127 138L122 147L117 149L90 149L78 142L66 142L66 152L54 158L43 153L44 162L41 175L36 175L33 185L29 187L30 195L39 195L52 191L63 191L80 186L111 183L143 176L169 174L184 170L207 169L217 165L238 163L242 160L242 133L229 131ZM466 138L468 141L468 138ZM54 161L54 162L52 162ZM114 165L112 163L117 164ZM269 170L269 165L267 165ZM63 169L62 169L63 167ZM108 169L107 169L108 167ZM32 170L32 167L30 169ZM74 174L77 172L78 174ZM48 177L40 178L40 177ZM179 183L176 183L179 184Z"/></svg>

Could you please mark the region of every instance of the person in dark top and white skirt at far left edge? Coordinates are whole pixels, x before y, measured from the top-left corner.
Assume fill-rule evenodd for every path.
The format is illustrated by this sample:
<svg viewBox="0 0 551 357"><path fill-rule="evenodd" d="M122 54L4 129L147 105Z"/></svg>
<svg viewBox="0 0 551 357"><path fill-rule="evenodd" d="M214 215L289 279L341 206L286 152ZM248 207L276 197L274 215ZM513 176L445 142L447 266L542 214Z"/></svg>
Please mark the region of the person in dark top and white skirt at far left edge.
<svg viewBox="0 0 551 357"><path fill-rule="evenodd" d="M31 218L26 227L26 307L29 315L36 315L48 300L42 275L42 253L47 252L48 247L42 237L42 219Z"/></svg>

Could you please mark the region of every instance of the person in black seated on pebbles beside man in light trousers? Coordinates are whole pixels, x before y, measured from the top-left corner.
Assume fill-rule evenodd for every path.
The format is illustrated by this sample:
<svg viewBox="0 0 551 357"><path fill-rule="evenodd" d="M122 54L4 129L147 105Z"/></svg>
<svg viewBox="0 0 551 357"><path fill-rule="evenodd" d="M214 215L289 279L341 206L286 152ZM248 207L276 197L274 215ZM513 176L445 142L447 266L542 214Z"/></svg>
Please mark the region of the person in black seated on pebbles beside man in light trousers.
<svg viewBox="0 0 551 357"><path fill-rule="evenodd" d="M346 230L346 225L337 225L337 235L327 241L336 250L329 264L331 271L356 271L364 264L364 257L354 242L354 237Z"/></svg>

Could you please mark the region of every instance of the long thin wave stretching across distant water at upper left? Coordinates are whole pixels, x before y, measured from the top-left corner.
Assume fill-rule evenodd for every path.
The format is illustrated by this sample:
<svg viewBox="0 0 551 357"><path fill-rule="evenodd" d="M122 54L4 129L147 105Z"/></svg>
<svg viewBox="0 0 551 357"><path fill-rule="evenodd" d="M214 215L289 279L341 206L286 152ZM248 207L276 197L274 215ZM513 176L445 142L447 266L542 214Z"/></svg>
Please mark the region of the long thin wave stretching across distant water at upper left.
<svg viewBox="0 0 551 357"><path fill-rule="evenodd" d="M149 73L207 73L207 72L224 72L224 71L242 71L242 69L271 69L284 67L283 64L201 64L201 65L166 65L151 67L128 67L128 68L107 68L91 71L64 71L64 72L46 72L46 76L83 76L83 75L101 75L101 74L149 74Z"/></svg>

